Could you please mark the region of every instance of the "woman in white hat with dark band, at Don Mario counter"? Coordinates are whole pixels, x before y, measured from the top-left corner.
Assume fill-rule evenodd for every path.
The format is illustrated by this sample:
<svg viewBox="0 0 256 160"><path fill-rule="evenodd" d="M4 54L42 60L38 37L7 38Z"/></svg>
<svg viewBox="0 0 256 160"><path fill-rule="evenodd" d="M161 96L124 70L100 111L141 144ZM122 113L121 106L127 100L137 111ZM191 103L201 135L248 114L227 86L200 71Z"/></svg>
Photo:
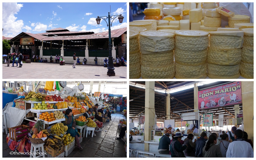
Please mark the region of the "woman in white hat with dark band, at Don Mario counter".
<svg viewBox="0 0 256 160"><path fill-rule="evenodd" d="M181 138L183 135L181 132L176 132L173 141L170 144L170 152L172 157L186 157L184 155L184 150L187 148L187 144L182 146L180 144Z"/></svg>

